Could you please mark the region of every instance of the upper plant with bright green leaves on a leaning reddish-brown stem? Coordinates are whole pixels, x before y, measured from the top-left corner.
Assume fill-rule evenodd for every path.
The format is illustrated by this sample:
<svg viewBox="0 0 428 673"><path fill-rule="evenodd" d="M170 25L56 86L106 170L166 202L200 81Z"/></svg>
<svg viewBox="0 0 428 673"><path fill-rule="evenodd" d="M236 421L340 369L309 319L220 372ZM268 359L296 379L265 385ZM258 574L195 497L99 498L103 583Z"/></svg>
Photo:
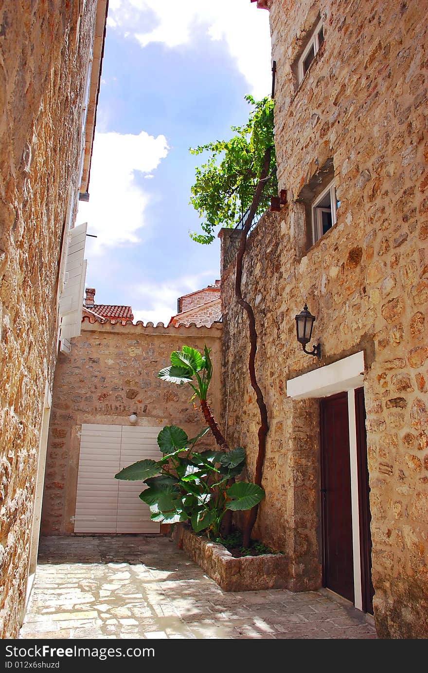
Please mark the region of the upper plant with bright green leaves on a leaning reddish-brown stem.
<svg viewBox="0 0 428 673"><path fill-rule="evenodd" d="M222 435L220 428L211 413L207 402L208 386L212 379L212 362L210 359L211 349L204 346L204 355L195 348L183 346L181 351L171 353L171 365L161 369L158 378L169 383L175 383L178 386L187 384L194 391L191 398L196 397L200 400L200 408L204 414L204 419L210 427L218 446L222 450L228 450L226 439Z"/></svg>

